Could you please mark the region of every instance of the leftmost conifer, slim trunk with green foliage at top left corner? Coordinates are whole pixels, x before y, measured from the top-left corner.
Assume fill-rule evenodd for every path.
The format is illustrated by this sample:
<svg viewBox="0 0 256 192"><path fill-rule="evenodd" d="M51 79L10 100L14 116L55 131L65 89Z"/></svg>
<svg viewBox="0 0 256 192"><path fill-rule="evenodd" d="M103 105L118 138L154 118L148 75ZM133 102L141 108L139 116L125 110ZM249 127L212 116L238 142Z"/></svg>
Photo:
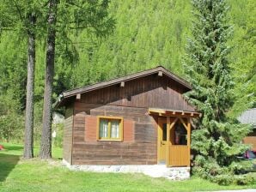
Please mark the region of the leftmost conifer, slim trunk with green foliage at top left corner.
<svg viewBox="0 0 256 192"><path fill-rule="evenodd" d="M34 66L36 17L40 1L3 1L0 3L0 30L18 31L27 38L27 99L23 157L34 157Z"/></svg>

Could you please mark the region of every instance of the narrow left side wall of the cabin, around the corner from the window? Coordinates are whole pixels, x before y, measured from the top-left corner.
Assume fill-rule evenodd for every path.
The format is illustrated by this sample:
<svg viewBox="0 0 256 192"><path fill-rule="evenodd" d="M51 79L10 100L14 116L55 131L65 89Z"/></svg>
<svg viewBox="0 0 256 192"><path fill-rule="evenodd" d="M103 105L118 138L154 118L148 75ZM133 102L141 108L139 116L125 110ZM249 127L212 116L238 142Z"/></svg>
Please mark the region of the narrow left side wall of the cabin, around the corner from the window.
<svg viewBox="0 0 256 192"><path fill-rule="evenodd" d="M73 106L69 105L67 106L65 111L63 158L70 164L71 164L71 153L72 153L72 127L73 127Z"/></svg>

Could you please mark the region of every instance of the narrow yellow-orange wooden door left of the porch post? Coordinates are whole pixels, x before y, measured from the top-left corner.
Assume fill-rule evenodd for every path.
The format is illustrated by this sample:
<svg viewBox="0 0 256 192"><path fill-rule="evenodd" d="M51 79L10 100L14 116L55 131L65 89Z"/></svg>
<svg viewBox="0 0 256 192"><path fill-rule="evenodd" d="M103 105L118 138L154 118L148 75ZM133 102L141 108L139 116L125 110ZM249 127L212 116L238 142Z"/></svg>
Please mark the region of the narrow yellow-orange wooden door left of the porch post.
<svg viewBox="0 0 256 192"><path fill-rule="evenodd" d="M167 156L167 118L158 118L157 162L166 165Z"/></svg>

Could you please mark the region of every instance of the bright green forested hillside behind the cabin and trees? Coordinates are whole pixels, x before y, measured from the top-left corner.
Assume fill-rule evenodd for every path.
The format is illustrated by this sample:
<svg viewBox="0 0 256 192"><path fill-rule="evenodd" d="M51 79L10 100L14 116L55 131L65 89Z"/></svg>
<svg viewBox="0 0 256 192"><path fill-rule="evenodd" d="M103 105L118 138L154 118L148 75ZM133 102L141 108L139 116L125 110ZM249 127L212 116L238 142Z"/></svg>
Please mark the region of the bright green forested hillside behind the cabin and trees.
<svg viewBox="0 0 256 192"><path fill-rule="evenodd" d="M229 60L234 77L230 117L256 107L256 1L229 0L234 28ZM53 99L64 90L86 86L162 65L184 76L182 58L192 26L190 0L112 0L113 33L98 38L85 29L70 29L57 38ZM46 39L46 38L42 38ZM46 41L37 41L34 140L40 142ZM0 39L0 141L23 141L27 83L27 38L15 30ZM53 103L54 103L53 101ZM63 112L63 111L60 111ZM54 129L54 128L53 128ZM58 128L61 145L61 129Z"/></svg>

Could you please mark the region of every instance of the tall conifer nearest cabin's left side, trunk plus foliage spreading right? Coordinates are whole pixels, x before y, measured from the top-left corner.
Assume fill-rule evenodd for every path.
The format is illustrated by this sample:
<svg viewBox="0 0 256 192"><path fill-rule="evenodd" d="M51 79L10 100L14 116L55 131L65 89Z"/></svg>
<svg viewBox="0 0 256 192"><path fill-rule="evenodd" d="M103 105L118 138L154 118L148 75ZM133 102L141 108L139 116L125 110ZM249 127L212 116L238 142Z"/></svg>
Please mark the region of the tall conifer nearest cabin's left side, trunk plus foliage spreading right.
<svg viewBox="0 0 256 192"><path fill-rule="evenodd" d="M48 1L46 75L43 108L43 129L40 142L40 158L52 158L52 88L55 64L55 42L70 41L70 30L88 29L98 37L112 31L113 19L108 17L108 0L103 1ZM58 33L57 33L58 32ZM69 42L70 43L70 42Z"/></svg>

